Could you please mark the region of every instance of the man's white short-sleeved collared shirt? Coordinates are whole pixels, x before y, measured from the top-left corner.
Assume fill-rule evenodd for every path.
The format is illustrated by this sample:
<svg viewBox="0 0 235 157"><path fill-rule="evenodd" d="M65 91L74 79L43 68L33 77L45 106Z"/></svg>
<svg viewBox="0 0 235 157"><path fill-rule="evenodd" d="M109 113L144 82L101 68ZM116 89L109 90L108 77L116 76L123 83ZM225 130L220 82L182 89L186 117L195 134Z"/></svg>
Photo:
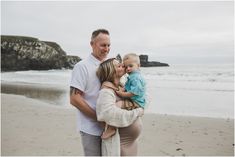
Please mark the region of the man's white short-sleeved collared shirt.
<svg viewBox="0 0 235 157"><path fill-rule="evenodd" d="M83 98L87 104L96 110L96 101L100 90L100 81L96 76L96 70L100 65L92 54L87 59L78 62L72 71L70 86L83 91ZM102 128L99 123L78 110L78 129L87 134L100 136Z"/></svg>

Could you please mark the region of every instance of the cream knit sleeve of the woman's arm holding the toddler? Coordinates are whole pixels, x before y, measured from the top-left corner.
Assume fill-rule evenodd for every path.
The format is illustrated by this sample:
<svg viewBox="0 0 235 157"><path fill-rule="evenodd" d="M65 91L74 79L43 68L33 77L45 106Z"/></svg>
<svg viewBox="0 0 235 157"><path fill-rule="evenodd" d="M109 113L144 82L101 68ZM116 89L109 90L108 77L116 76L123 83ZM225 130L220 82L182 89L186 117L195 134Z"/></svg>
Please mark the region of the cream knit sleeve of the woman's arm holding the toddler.
<svg viewBox="0 0 235 157"><path fill-rule="evenodd" d="M127 127L131 125L142 113L141 108L124 110L116 105L116 96L111 89L101 89L99 92L96 114L98 121L104 121L115 127Z"/></svg>

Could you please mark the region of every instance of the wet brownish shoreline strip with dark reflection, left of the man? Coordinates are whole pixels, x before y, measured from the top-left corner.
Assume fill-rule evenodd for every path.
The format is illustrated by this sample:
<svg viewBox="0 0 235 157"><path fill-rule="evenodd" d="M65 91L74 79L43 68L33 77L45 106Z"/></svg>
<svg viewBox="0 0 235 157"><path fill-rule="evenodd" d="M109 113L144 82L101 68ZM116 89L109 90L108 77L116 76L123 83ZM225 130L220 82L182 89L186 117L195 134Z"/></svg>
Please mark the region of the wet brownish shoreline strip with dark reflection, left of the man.
<svg viewBox="0 0 235 157"><path fill-rule="evenodd" d="M69 88L58 84L1 81L1 93L40 100L54 106L69 106Z"/></svg>

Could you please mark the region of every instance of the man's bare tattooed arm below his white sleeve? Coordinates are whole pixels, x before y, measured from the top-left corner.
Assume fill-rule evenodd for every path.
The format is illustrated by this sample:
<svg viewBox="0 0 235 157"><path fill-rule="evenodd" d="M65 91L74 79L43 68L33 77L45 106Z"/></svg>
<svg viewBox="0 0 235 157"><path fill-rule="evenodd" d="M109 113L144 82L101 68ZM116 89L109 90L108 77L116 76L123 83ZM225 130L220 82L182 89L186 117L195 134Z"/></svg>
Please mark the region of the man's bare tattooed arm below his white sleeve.
<svg viewBox="0 0 235 157"><path fill-rule="evenodd" d="M77 88L70 87L70 104L79 109L88 117L97 121L96 112L83 99L83 92Z"/></svg>

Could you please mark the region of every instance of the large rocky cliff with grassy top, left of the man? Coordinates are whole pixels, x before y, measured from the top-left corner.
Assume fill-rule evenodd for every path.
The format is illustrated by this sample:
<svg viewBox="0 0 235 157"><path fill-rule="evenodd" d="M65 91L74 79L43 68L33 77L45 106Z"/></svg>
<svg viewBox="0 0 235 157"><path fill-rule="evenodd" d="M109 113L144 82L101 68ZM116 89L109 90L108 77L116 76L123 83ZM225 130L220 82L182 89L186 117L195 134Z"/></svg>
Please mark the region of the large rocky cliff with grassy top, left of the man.
<svg viewBox="0 0 235 157"><path fill-rule="evenodd" d="M78 56L66 55L55 42L24 36L1 36L1 70L71 69Z"/></svg>

